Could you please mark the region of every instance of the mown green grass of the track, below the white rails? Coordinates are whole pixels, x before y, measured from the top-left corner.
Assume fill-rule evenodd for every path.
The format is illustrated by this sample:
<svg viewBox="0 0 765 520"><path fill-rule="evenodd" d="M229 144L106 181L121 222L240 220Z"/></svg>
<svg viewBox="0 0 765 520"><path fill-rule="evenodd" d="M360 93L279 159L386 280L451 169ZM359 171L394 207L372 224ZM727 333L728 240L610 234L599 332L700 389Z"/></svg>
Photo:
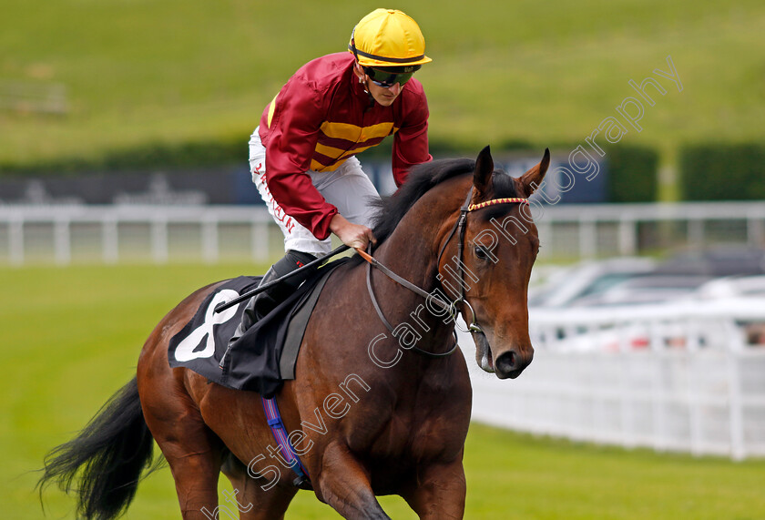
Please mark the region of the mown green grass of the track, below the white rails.
<svg viewBox="0 0 765 520"><path fill-rule="evenodd" d="M209 281L264 267L0 269L2 516L42 518L34 470L128 382L141 344L166 311ZM765 517L765 461L623 451L474 424L465 468L467 518ZM414 518L396 497L382 504L393 518ZM55 489L46 505L50 518L74 517L72 500ZM178 515L166 468L139 486L127 518ZM302 492L289 517L338 516Z"/></svg>

